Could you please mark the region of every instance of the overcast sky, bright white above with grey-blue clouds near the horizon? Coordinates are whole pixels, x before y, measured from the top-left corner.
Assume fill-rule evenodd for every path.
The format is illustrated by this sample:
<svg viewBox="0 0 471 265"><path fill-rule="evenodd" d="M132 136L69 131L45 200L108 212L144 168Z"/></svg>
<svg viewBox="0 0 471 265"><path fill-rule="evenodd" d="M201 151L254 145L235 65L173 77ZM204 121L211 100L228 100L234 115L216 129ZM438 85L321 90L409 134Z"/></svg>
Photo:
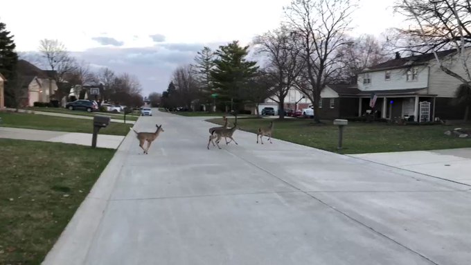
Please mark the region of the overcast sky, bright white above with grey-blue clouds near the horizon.
<svg viewBox="0 0 471 265"><path fill-rule="evenodd" d="M354 34L380 35L398 26L394 0L359 0ZM279 26L291 0L15 0L2 1L0 21L18 51L58 39L92 67L139 77L143 94L166 90L172 71L192 63L203 46L249 44Z"/></svg>

